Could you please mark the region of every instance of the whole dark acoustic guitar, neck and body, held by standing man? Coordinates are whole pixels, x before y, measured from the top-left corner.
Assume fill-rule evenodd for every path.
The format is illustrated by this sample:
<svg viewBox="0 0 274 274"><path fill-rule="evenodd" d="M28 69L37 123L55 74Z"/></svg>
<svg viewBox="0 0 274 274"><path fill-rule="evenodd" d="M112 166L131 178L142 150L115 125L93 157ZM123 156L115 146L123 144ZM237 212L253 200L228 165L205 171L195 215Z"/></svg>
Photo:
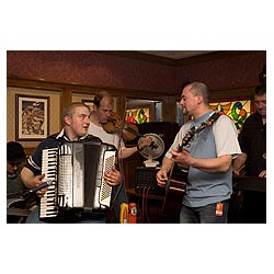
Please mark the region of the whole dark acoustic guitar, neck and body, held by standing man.
<svg viewBox="0 0 274 274"><path fill-rule="evenodd" d="M182 144L179 145L178 151L182 152L190 147L195 134L210 126L220 116L219 113L214 113L206 122L203 122L197 128L194 126L185 134ZM171 167L169 179L165 184L165 196L162 204L162 214L178 217L181 212L183 196L187 183L187 170L180 168L174 163Z"/></svg>

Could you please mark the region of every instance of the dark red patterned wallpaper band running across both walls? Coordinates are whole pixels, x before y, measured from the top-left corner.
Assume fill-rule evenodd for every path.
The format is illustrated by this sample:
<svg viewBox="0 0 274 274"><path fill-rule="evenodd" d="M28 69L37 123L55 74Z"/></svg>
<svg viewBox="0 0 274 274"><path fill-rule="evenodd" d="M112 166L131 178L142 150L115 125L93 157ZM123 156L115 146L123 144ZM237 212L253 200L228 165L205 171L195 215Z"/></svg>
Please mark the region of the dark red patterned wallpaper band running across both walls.
<svg viewBox="0 0 274 274"><path fill-rule="evenodd" d="M204 81L210 89L254 84L266 64L266 52L243 52L181 67L77 50L8 52L7 62L12 76L178 94L186 78Z"/></svg>

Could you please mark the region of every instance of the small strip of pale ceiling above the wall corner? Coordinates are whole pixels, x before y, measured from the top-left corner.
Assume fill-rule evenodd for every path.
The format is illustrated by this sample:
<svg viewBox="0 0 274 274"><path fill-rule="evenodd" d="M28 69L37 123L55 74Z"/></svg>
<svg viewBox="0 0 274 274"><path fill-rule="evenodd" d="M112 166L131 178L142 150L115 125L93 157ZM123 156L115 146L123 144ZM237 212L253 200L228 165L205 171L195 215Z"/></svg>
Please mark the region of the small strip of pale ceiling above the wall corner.
<svg viewBox="0 0 274 274"><path fill-rule="evenodd" d="M214 53L216 50L137 50L137 52L171 59L183 59L187 57Z"/></svg>

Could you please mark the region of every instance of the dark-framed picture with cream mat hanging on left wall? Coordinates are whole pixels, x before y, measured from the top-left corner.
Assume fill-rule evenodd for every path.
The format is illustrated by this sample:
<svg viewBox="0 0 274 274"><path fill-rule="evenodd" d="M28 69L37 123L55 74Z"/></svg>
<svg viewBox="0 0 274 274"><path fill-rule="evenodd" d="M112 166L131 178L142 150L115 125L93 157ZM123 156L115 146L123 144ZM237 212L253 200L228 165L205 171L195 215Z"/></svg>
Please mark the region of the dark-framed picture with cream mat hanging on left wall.
<svg viewBox="0 0 274 274"><path fill-rule="evenodd" d="M48 136L49 98L15 95L16 140L42 140Z"/></svg>

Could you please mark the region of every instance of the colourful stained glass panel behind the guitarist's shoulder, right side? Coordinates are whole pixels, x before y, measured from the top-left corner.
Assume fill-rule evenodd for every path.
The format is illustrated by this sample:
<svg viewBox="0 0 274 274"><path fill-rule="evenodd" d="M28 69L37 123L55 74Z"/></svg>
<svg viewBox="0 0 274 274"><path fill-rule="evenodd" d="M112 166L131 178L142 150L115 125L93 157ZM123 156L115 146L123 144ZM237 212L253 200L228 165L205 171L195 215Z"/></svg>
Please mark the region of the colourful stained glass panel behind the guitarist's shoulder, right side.
<svg viewBox="0 0 274 274"><path fill-rule="evenodd" d="M215 102L210 103L209 106L212 110L229 116L235 122L238 130L241 130L244 121L251 114L250 100Z"/></svg>

